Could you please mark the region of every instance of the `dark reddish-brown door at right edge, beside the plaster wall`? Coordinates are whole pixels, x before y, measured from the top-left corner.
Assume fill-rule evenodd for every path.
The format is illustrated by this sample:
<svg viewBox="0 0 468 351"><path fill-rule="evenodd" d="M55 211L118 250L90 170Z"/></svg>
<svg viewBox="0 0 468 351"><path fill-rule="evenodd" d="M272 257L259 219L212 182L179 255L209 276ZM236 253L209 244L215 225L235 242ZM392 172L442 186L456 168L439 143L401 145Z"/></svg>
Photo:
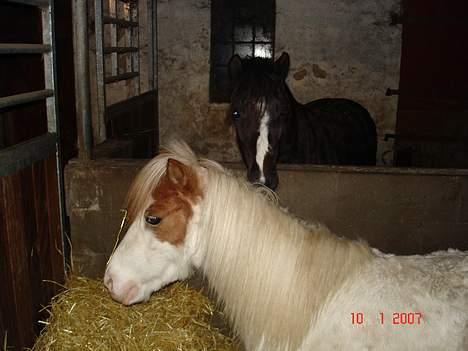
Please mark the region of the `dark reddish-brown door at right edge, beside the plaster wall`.
<svg viewBox="0 0 468 351"><path fill-rule="evenodd" d="M395 164L468 168L468 1L402 4Z"/></svg>

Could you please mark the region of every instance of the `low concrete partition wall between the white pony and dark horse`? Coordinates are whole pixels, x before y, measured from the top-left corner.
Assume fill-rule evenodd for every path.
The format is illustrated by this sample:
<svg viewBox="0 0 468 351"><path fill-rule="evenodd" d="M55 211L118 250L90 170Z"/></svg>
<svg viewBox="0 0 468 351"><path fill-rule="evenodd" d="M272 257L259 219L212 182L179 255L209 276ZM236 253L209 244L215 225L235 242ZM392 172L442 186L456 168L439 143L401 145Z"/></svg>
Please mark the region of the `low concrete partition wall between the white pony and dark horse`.
<svg viewBox="0 0 468 351"><path fill-rule="evenodd" d="M72 260L102 276L127 189L146 160L71 161L65 168ZM228 164L244 175L239 164ZM280 165L281 203L384 252L468 249L468 171Z"/></svg>

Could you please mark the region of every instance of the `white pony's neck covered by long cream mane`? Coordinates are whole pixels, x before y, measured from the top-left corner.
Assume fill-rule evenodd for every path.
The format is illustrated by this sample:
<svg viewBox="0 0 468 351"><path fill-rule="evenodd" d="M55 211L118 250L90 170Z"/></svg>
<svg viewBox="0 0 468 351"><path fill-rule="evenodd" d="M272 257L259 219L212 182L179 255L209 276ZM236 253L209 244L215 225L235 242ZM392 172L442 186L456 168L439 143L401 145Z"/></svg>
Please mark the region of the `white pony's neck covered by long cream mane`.
<svg viewBox="0 0 468 351"><path fill-rule="evenodd" d="M370 259L369 248L306 226L225 174L203 200L202 270L248 349L299 347L316 314Z"/></svg>

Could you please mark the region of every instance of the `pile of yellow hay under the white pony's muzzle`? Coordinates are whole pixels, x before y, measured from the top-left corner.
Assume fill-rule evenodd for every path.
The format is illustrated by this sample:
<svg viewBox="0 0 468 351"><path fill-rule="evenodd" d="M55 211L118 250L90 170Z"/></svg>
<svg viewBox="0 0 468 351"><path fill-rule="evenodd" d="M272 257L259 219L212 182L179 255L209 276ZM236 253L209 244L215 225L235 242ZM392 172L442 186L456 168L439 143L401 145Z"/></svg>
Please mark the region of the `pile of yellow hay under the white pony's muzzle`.
<svg viewBox="0 0 468 351"><path fill-rule="evenodd" d="M113 301L102 282L72 277L53 298L50 317L33 350L239 350L213 327L212 302L185 282L142 304Z"/></svg>

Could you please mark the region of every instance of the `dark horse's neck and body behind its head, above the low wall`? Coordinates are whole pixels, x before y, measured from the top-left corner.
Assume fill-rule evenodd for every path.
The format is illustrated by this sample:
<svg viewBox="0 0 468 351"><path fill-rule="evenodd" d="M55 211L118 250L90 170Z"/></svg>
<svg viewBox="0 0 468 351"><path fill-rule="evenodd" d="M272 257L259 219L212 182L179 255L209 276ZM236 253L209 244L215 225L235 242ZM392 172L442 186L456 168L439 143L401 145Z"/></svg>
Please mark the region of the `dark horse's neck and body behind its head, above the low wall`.
<svg viewBox="0 0 468 351"><path fill-rule="evenodd" d="M375 165L377 135L369 112L357 102L322 98L303 105L289 88L279 162Z"/></svg>

